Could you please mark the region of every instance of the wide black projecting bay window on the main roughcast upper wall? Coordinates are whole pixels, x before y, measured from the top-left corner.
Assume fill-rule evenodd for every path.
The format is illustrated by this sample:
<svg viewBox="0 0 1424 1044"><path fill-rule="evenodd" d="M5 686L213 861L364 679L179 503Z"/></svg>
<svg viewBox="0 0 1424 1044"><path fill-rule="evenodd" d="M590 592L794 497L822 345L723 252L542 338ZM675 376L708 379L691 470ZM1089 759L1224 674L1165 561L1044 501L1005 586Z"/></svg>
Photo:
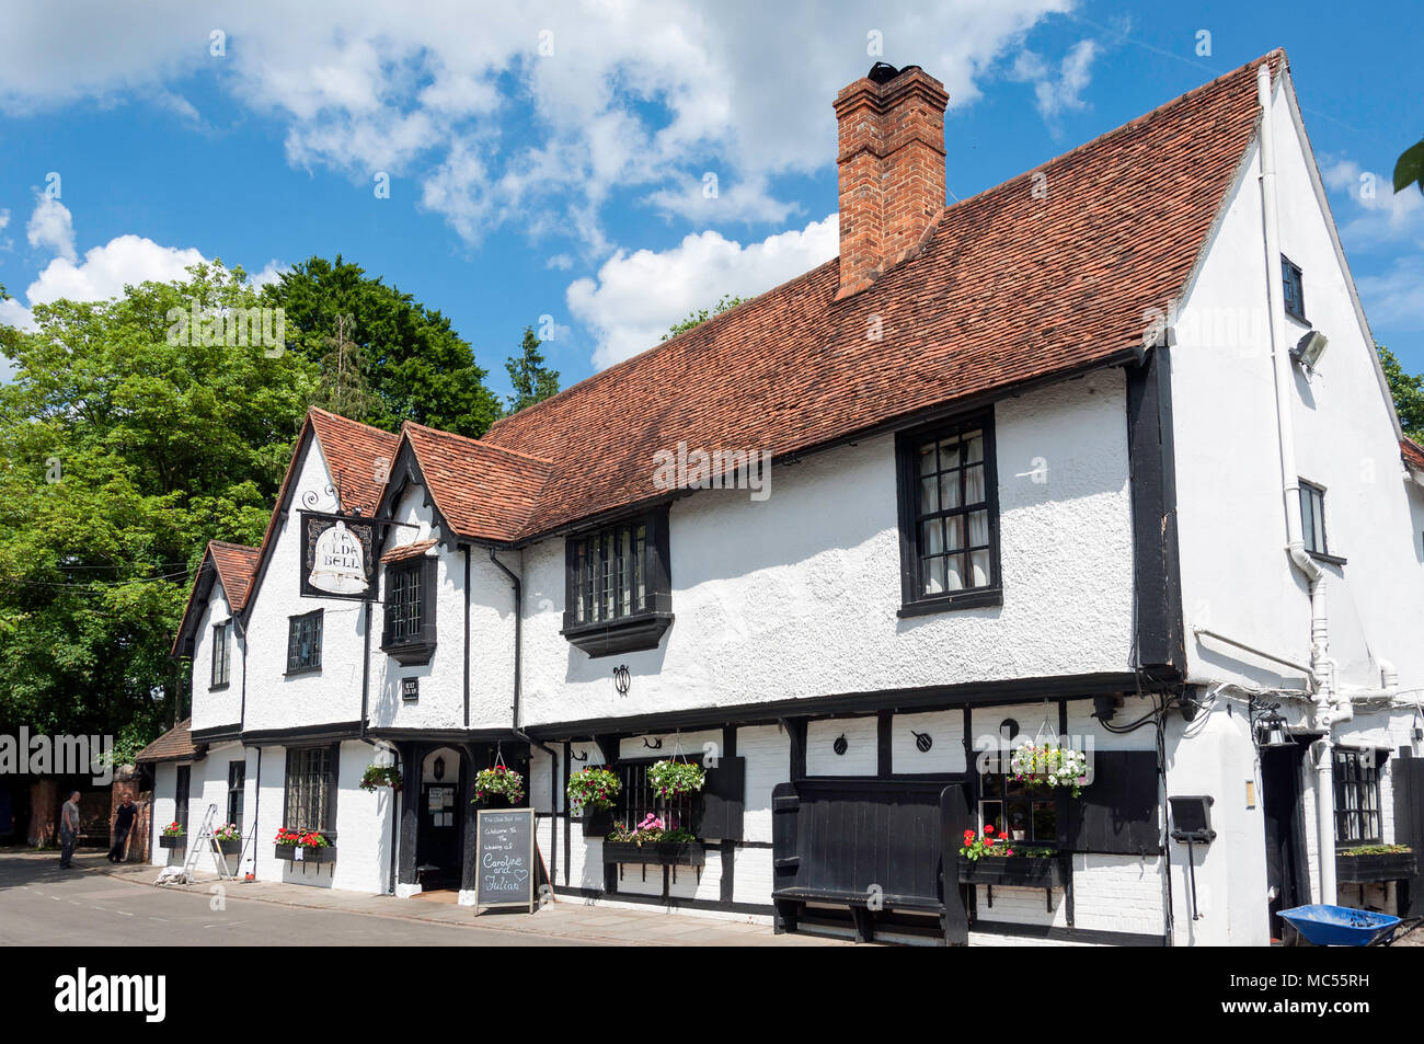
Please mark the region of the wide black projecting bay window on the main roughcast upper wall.
<svg viewBox="0 0 1424 1044"><path fill-rule="evenodd" d="M666 511L568 537L565 570L571 642L594 657L656 648L672 622Z"/></svg>

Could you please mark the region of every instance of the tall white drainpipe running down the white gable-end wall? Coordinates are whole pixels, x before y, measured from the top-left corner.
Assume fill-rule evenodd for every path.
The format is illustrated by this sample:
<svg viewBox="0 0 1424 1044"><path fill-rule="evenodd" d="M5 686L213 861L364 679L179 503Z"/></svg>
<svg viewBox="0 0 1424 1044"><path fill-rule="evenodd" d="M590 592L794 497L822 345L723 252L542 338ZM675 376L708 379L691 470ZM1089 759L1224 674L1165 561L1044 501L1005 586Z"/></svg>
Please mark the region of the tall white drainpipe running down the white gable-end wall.
<svg viewBox="0 0 1424 1044"><path fill-rule="evenodd" d="M1300 479L1296 471L1296 434L1292 422L1294 372L1282 343L1284 301L1280 286L1280 215L1276 211L1276 134L1272 120L1270 66L1256 70L1260 103L1260 204L1266 239L1266 298L1270 357L1276 373L1276 426L1280 436L1280 484L1286 507L1286 551L1310 585L1310 674L1314 688L1314 724L1324 736L1314 745L1316 826L1320 855L1320 902L1336 902L1334 866L1334 725L1350 716L1334 699L1334 662L1330 659L1330 618L1326 612L1324 570L1306 551L1300 523Z"/></svg>

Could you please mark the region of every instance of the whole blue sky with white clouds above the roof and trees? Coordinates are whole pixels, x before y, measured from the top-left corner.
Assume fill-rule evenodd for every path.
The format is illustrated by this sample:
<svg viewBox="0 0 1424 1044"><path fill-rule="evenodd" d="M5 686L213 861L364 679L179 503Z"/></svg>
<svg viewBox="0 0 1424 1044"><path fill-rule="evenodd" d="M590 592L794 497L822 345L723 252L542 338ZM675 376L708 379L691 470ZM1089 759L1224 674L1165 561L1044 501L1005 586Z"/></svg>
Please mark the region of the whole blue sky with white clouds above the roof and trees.
<svg viewBox="0 0 1424 1044"><path fill-rule="evenodd" d="M1424 370L1424 197L1388 184L1424 135L1404 3L197 7L0 3L0 318L340 252L497 392L525 325L567 386L836 252L830 101L877 41L948 87L957 198L1284 46L1376 336Z"/></svg>

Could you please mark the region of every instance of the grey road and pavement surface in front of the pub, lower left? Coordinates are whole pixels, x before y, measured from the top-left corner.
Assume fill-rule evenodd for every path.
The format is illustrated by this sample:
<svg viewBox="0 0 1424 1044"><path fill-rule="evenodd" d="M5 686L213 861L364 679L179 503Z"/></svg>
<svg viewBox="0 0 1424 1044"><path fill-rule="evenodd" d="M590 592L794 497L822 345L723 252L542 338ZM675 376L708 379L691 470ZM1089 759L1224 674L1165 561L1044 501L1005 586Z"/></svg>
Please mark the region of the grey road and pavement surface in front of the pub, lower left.
<svg viewBox="0 0 1424 1044"><path fill-rule="evenodd" d="M768 924L560 899L535 913L276 882L154 886L159 867L0 850L0 946L849 946ZM431 899L434 899L431 896ZM299 920L293 920L293 917Z"/></svg>

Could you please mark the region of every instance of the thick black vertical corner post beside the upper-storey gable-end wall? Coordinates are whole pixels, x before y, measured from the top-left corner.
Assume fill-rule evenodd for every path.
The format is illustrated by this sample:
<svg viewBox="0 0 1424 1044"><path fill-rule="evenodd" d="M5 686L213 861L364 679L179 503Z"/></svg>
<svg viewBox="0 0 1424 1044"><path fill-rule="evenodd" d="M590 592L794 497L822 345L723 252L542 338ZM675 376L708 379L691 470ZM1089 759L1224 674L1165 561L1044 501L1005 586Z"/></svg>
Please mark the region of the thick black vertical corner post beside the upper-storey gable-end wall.
<svg viewBox="0 0 1424 1044"><path fill-rule="evenodd" d="M1186 638L1176 526L1172 356L1166 343L1152 348L1141 366L1128 369L1126 397L1136 667L1151 677L1176 681L1186 674Z"/></svg>

